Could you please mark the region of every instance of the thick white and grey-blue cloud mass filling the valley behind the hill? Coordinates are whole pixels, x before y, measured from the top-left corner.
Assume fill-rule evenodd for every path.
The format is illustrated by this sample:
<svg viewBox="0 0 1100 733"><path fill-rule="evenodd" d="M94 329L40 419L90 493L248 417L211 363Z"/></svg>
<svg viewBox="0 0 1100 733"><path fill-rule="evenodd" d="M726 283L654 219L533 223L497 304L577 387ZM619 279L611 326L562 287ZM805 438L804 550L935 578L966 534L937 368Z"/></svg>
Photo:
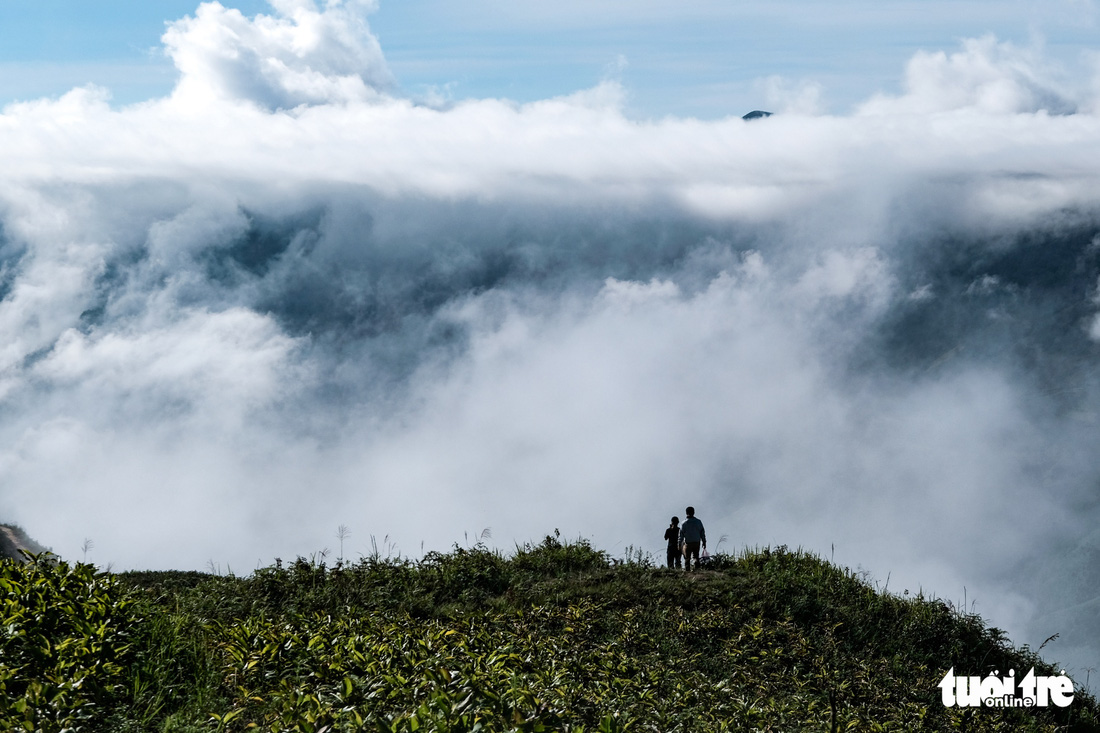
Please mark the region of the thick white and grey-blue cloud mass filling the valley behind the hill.
<svg viewBox="0 0 1100 733"><path fill-rule="evenodd" d="M339 525L660 555L690 503L1100 657L1100 75L983 37L844 117L429 105L370 9L204 3L170 96L0 113L0 517L248 572Z"/></svg>

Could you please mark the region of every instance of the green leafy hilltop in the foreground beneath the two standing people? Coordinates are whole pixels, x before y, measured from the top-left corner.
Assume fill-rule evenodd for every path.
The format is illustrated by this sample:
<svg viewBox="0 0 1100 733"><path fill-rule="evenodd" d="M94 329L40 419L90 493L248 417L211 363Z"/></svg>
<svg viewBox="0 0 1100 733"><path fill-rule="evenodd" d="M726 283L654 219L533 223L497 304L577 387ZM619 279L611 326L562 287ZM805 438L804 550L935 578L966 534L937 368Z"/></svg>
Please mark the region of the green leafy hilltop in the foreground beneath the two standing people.
<svg viewBox="0 0 1100 733"><path fill-rule="evenodd" d="M0 562L0 730L1098 731L944 708L944 672L1054 674L938 600L780 547L685 576L548 536L246 578Z"/></svg>

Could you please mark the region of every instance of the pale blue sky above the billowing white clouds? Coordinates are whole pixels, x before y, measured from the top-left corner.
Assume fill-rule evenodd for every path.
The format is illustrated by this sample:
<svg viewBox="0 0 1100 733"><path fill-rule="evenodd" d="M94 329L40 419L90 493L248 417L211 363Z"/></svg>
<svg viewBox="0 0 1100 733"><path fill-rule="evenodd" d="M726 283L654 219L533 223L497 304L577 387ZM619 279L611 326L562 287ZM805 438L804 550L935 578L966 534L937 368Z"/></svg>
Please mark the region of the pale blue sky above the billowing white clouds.
<svg viewBox="0 0 1100 733"><path fill-rule="evenodd" d="M0 3L0 103L85 84L116 105L163 96L177 74L165 23L197 2L8 0ZM226 2L245 15L262 0ZM765 79L814 85L821 111L894 92L919 50L952 52L992 33L1043 46L1072 78L1096 37L1091 2L783 0L559 2L382 0L370 17L404 94L530 101L614 77L627 112L718 118L766 105Z"/></svg>

